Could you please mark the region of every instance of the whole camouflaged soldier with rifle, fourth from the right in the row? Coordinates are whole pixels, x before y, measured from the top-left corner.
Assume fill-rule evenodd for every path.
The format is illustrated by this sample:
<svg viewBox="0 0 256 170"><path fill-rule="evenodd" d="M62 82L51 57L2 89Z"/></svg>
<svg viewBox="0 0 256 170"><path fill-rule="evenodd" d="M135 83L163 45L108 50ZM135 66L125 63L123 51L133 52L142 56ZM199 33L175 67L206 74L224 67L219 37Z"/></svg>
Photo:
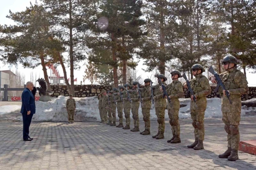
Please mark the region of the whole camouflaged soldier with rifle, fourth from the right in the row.
<svg viewBox="0 0 256 170"><path fill-rule="evenodd" d="M158 79L161 79L163 85L166 86L165 81L167 78L164 76L164 74L159 74L157 76ZM164 139L164 130L165 130L165 122L164 122L164 116L165 116L165 109L166 109L166 99L163 98L163 92L160 91L161 85L158 84L154 86L154 106L156 110L157 115L157 122L158 122L158 132L156 135L152 136L152 138L156 139Z"/></svg>

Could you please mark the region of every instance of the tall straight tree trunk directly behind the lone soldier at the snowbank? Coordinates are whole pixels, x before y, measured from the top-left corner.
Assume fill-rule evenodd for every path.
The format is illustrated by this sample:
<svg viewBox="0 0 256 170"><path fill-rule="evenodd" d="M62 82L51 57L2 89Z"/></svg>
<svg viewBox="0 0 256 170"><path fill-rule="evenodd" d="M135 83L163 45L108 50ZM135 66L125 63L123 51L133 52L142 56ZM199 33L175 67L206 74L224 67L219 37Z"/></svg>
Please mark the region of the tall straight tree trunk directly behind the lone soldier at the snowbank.
<svg viewBox="0 0 256 170"><path fill-rule="evenodd" d="M75 97L74 87L74 56L73 56L73 20L72 20L72 0L69 0L69 56L70 56L70 84L71 94Z"/></svg>

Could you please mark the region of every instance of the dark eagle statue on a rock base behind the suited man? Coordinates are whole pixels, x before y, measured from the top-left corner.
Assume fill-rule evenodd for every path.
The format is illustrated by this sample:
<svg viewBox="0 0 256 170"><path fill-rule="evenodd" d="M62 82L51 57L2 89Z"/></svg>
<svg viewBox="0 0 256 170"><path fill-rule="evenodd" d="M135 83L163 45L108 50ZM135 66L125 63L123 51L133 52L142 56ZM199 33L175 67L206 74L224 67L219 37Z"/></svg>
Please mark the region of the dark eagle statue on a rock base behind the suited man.
<svg viewBox="0 0 256 170"><path fill-rule="evenodd" d="M49 92L47 90L47 83L46 83L46 81L43 78L38 79L36 81L41 86L40 88L36 87L36 89L39 91L39 93L41 95L40 98L39 98L39 101L42 101L42 102L51 101L50 95L53 94L53 92Z"/></svg>

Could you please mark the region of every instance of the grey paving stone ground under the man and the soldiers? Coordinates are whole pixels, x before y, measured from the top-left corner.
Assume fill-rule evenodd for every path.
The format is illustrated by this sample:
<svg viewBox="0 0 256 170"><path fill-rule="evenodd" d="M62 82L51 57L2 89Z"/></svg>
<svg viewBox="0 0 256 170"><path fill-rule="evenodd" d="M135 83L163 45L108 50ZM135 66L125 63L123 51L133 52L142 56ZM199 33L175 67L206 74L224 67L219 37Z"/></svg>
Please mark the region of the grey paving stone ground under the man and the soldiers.
<svg viewBox="0 0 256 170"><path fill-rule="evenodd" d="M243 117L241 140L256 139L256 117ZM204 150L188 149L194 142L191 120L181 119L181 143L170 144L171 128L165 122L165 139L123 130L98 122L31 123L32 142L22 140L22 122L0 121L0 169L256 169L256 156L239 151L235 162L218 158L227 148L221 119L205 119ZM133 127L133 126L132 126ZM144 130L140 122L140 130Z"/></svg>

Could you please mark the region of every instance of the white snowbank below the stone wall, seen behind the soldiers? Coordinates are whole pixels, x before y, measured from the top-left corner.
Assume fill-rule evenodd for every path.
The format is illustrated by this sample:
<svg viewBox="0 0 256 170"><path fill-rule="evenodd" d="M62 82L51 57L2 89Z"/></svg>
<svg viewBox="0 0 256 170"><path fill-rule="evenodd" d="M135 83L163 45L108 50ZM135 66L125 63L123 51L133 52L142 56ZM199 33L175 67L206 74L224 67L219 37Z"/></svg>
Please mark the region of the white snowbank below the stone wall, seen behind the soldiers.
<svg viewBox="0 0 256 170"><path fill-rule="evenodd" d="M67 122L68 119L66 111L66 101L68 98L69 97L59 96L58 98L53 98L53 100L50 102L36 102L36 114L33 116L33 121ZM76 100L77 105L74 116L75 121L100 121L97 97L85 97L74 99ZM179 118L190 118L190 99L180 99L180 103L187 106L180 108ZM255 111L256 108L247 108L246 106L243 106L241 116L245 116L245 112L249 112L252 110ZM151 109L150 113L151 119L157 118L155 109ZM207 109L205 111L205 118L220 118L221 116L221 99L207 99ZM139 117L142 120L141 108L139 108ZM168 119L167 110L165 110L165 119Z"/></svg>

